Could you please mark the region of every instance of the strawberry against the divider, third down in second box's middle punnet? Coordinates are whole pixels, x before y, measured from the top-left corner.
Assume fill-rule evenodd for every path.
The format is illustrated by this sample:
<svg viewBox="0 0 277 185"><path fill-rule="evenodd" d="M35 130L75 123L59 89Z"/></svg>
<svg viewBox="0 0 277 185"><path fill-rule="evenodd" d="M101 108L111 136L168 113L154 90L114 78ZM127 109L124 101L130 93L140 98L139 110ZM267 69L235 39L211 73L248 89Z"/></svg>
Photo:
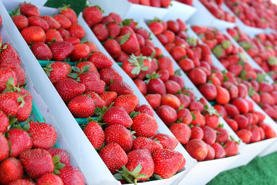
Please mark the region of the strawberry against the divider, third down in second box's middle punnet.
<svg viewBox="0 0 277 185"><path fill-rule="evenodd" d="M132 95L134 93L132 87L130 87L126 82L114 81L109 86L109 91L114 91L117 96L121 95Z"/></svg>

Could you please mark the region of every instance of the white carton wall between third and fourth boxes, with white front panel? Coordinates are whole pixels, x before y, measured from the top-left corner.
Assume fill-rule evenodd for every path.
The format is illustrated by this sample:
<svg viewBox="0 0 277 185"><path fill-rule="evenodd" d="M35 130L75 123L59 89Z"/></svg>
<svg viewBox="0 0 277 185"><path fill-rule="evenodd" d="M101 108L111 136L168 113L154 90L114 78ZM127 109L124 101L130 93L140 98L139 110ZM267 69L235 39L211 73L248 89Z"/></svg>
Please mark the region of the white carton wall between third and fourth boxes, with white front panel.
<svg viewBox="0 0 277 185"><path fill-rule="evenodd" d="M151 33L151 39L155 45L155 47L159 47L162 49L163 54L166 57L169 57L174 62L174 70L181 69L179 65L174 61L162 43L156 38L156 36L152 33L152 31L148 28L144 20L141 20L138 23L138 26L147 29ZM188 36L195 37L196 35L188 27ZM191 34L191 35L190 35ZM196 37L195 37L196 38ZM197 99L204 98L200 91L195 87L195 85L190 81L187 75L181 69L181 77L185 80L185 86L189 88L193 88L193 93L197 97ZM209 104L209 106L211 106ZM228 130L229 135L233 136L236 141L239 141L239 137L232 131L229 125L224 121L223 118L220 118L220 122L224 125L224 128ZM243 150L245 143L241 142L240 151ZM210 161L202 161L198 162L196 166L192 169L192 171L180 182L180 184L206 184L212 178L214 178L217 174L224 171L225 168L228 167L231 163L234 163L236 159L240 157L240 153L236 156L223 158L223 159L215 159ZM207 171L207 169L209 169ZM199 174L202 174L201 178L199 178Z"/></svg>

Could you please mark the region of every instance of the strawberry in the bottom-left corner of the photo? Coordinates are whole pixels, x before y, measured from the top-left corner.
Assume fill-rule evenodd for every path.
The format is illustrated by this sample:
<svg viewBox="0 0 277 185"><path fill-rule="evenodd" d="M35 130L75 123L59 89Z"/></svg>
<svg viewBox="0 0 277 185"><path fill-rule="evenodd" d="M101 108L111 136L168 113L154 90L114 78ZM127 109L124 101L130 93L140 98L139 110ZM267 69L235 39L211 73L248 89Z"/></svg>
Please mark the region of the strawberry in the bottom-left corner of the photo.
<svg viewBox="0 0 277 185"><path fill-rule="evenodd" d="M21 162L14 158L9 157L0 163L0 183L9 184L14 180L23 177L23 167Z"/></svg>

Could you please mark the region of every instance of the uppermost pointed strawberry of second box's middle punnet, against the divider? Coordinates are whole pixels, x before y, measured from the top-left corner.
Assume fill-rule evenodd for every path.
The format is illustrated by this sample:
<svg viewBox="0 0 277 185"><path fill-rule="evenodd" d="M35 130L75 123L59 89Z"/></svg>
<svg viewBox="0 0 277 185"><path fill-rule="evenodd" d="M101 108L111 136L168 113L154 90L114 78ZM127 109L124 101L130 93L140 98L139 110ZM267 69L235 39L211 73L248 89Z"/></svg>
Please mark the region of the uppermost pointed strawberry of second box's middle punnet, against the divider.
<svg viewBox="0 0 277 185"><path fill-rule="evenodd" d="M92 62L97 69L111 67L113 64L112 60L100 51L93 52L90 55L88 61Z"/></svg>

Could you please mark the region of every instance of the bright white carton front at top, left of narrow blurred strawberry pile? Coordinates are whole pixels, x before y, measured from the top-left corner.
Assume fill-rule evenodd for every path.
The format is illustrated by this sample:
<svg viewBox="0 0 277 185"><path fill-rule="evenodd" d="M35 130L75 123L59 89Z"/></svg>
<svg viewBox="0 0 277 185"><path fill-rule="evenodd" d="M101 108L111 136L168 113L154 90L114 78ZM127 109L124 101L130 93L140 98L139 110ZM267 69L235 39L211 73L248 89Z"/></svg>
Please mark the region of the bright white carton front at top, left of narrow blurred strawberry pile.
<svg viewBox="0 0 277 185"><path fill-rule="evenodd" d="M182 21L186 22L196 12L196 8L193 6L189 6L177 1L171 1L171 5L172 6L168 7L168 12L163 17L164 21L181 18Z"/></svg>

